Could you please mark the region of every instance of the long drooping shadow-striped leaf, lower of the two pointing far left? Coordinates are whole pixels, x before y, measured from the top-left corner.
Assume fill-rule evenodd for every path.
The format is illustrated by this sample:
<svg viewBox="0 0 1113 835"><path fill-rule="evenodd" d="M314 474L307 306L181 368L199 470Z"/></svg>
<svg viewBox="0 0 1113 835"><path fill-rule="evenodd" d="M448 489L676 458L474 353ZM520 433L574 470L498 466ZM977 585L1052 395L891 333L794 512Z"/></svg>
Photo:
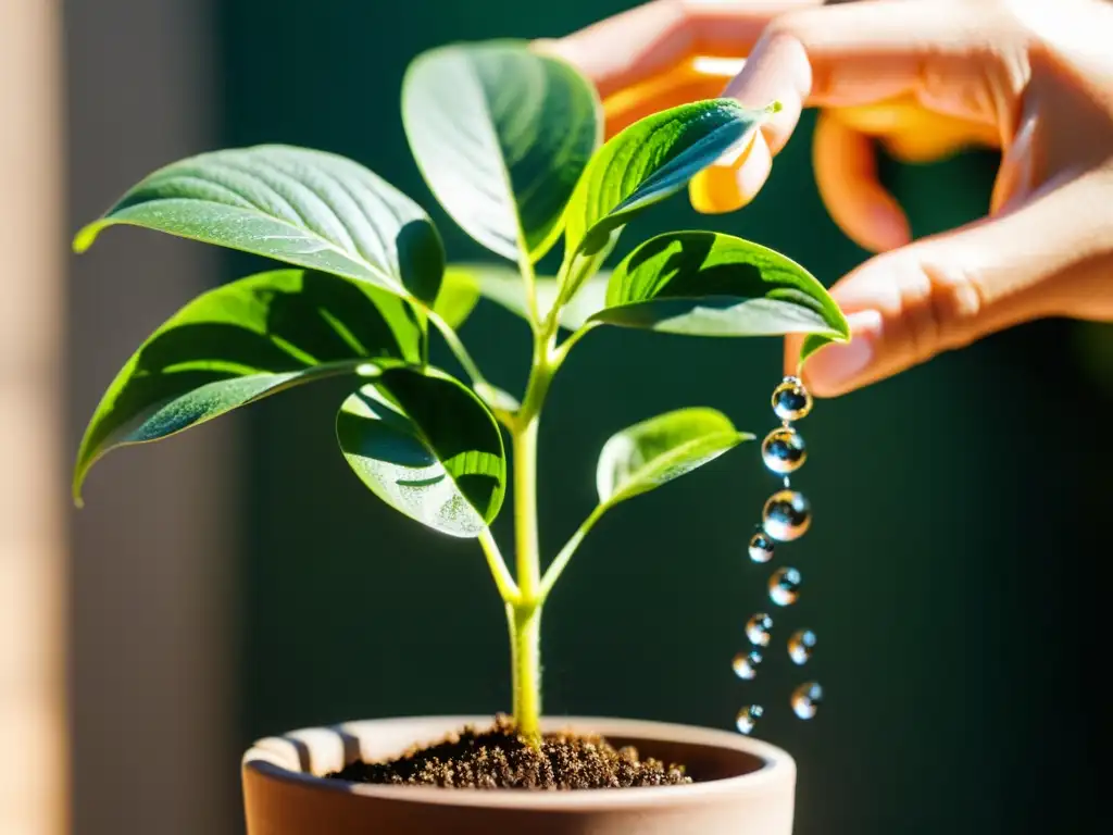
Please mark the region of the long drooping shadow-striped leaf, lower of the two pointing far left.
<svg viewBox="0 0 1113 835"><path fill-rule="evenodd" d="M86 429L73 498L110 450L156 441L368 358L421 362L410 305L362 282L282 269L198 296L116 375Z"/></svg>

